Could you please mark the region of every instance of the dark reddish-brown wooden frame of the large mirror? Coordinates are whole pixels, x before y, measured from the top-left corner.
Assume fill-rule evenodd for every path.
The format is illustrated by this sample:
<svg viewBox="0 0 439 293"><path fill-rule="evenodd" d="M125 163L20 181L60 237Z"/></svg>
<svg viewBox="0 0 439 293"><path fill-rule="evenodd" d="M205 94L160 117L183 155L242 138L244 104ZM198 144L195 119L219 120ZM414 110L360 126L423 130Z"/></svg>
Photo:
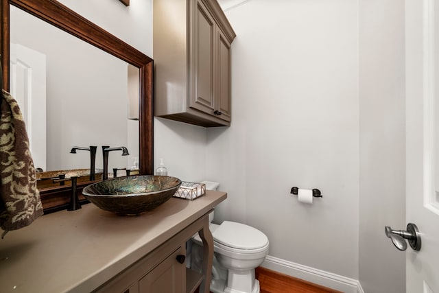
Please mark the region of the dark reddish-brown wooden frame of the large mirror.
<svg viewBox="0 0 439 293"><path fill-rule="evenodd" d="M0 0L1 1L1 65L3 89L10 91L10 9L23 10L38 19L67 32L94 47L105 51L139 69L139 167L141 174L153 174L153 60L141 51L124 43L80 14L55 0ZM108 81L111 82L111 81ZM81 84L78 84L80 88ZM119 145L114 145L119 146ZM98 145L98 148L100 146ZM91 182L78 183L78 193ZM71 187L58 186L40 189L45 213L64 209ZM84 199L84 198L81 198Z"/></svg>

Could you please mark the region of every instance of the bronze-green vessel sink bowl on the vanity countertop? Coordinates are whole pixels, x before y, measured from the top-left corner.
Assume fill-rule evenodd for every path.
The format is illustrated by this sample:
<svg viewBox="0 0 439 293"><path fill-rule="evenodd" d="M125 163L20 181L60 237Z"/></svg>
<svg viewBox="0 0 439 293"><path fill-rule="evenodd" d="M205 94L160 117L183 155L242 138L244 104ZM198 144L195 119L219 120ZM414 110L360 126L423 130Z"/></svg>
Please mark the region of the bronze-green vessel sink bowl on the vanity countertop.
<svg viewBox="0 0 439 293"><path fill-rule="evenodd" d="M137 175L93 183L82 189L90 202L118 215L140 215L174 196L181 180L171 176Z"/></svg>

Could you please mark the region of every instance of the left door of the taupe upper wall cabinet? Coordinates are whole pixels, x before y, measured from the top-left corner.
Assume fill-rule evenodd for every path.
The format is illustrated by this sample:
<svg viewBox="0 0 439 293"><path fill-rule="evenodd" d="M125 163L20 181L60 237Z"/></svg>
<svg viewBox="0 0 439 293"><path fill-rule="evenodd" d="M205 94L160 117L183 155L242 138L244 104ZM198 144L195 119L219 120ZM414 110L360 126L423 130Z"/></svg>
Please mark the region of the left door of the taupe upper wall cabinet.
<svg viewBox="0 0 439 293"><path fill-rule="evenodd" d="M201 0L196 1L191 49L191 89L189 106L213 114L215 107L215 30L211 14Z"/></svg>

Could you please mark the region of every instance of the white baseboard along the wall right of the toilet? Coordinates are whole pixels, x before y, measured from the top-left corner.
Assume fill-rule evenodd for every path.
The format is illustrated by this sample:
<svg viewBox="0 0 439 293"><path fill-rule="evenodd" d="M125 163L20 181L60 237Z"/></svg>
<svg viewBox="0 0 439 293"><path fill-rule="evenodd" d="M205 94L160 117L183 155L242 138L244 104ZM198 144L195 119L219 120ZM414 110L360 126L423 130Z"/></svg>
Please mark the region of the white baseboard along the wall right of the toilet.
<svg viewBox="0 0 439 293"><path fill-rule="evenodd" d="M333 274L332 272L325 272L324 270L318 270L309 266L303 266L299 263L293 263L292 261L285 261L283 259L271 257L270 255L265 257L265 261L261 266L333 290L345 293L364 293L358 280L343 277L340 276L340 274Z"/></svg>

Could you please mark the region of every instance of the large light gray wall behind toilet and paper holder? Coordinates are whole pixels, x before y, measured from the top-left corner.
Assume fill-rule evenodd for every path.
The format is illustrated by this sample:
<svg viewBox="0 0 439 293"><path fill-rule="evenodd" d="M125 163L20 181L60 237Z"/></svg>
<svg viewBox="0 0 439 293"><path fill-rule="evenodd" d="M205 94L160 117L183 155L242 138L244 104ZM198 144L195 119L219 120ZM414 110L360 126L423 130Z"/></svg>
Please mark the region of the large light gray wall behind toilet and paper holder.
<svg viewBox="0 0 439 293"><path fill-rule="evenodd" d="M358 279L358 5L252 0L226 11L233 121L209 129L215 220L259 228L271 257ZM298 202L291 187L324 198Z"/></svg>

